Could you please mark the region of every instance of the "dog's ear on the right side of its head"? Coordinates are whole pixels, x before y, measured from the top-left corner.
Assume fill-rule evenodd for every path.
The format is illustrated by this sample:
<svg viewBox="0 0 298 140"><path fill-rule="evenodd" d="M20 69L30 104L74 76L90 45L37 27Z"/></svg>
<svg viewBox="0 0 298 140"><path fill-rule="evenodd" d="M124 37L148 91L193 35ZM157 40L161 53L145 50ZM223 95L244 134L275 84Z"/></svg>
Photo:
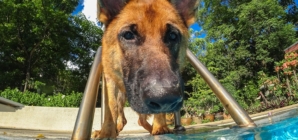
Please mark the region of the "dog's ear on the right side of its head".
<svg viewBox="0 0 298 140"><path fill-rule="evenodd" d="M170 0L176 7L185 24L189 27L196 21L199 0Z"/></svg>

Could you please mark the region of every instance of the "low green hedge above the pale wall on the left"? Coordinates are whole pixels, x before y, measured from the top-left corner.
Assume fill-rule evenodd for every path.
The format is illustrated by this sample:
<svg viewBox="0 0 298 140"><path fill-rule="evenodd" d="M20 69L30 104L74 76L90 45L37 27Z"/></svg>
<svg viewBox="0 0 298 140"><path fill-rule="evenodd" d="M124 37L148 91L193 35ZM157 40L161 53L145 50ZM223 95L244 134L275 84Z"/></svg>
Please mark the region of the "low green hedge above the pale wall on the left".
<svg viewBox="0 0 298 140"><path fill-rule="evenodd" d="M79 92L72 92L67 95L62 93L46 95L30 91L21 92L18 89L9 88L0 92L0 96L27 106L53 107L79 107L83 98L83 94Z"/></svg>

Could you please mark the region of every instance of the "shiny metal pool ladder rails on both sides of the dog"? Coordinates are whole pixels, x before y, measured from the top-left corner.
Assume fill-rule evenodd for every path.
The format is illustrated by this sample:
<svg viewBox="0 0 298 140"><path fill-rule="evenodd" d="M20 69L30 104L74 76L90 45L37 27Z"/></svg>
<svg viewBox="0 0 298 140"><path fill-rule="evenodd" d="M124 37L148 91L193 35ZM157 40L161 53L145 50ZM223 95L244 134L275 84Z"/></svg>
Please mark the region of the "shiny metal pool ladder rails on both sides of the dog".
<svg viewBox="0 0 298 140"><path fill-rule="evenodd" d="M235 123L240 127L255 127L256 124L243 110L243 108L235 101L226 89L218 82L218 80L208 71L208 69L196 58L189 50L186 50L186 55L192 66L197 70L200 76L209 85L216 97L223 104L224 108L229 112ZM77 115L76 123L72 133L72 140L88 140L91 137L94 112L96 108L96 100L99 90L100 78L102 76L101 62L101 47L98 48L94 62L89 73L88 81L85 87L84 96ZM102 85L104 85L102 80ZM104 91L105 86L102 86ZM102 92L103 93L103 92ZM102 95L101 106L101 122L103 123L104 112L104 94ZM175 112L175 128L176 131L185 131L185 128L180 123L180 112Z"/></svg>

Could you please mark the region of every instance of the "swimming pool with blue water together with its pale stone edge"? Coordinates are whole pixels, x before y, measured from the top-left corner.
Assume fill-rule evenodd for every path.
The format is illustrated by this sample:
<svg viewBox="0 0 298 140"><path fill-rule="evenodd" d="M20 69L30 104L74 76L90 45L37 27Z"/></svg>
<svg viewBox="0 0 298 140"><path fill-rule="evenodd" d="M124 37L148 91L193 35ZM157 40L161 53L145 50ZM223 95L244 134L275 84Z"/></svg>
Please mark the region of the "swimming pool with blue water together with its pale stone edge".
<svg viewBox="0 0 298 140"><path fill-rule="evenodd" d="M148 133L122 133L120 140L298 140L298 105L252 115L256 128L235 127L232 120L186 127L187 134L150 136ZM231 122L231 123L230 123ZM206 127L208 126L208 127ZM0 140L33 140L37 134L44 139L69 140L71 132L1 129Z"/></svg>

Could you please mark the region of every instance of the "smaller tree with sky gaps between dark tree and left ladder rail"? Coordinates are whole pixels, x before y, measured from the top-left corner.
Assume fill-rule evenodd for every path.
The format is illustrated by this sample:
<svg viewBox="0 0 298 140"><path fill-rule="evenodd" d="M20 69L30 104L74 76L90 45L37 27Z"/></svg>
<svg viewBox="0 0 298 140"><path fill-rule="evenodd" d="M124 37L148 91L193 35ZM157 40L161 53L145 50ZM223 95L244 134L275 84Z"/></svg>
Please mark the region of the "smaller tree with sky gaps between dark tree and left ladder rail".
<svg viewBox="0 0 298 140"><path fill-rule="evenodd" d="M101 28L90 22L83 14L78 14L73 19L73 24L77 28L77 36L71 40L70 62L75 68L63 69L59 72L60 91L71 92L69 90L83 92L91 65L95 57L97 48L101 45L103 31ZM58 85L57 85L58 86Z"/></svg>

